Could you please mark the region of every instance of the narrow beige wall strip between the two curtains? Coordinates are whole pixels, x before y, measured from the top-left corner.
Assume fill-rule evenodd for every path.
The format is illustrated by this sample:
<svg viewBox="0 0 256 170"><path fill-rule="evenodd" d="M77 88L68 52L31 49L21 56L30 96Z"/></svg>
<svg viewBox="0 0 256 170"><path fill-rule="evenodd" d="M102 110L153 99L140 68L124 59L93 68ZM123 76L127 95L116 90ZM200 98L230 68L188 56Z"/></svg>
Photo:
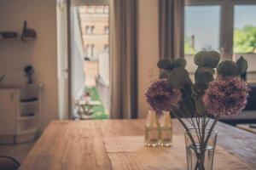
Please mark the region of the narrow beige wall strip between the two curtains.
<svg viewBox="0 0 256 170"><path fill-rule="evenodd" d="M138 29L138 117L148 113L144 91L159 76L158 0L139 0Z"/></svg>

